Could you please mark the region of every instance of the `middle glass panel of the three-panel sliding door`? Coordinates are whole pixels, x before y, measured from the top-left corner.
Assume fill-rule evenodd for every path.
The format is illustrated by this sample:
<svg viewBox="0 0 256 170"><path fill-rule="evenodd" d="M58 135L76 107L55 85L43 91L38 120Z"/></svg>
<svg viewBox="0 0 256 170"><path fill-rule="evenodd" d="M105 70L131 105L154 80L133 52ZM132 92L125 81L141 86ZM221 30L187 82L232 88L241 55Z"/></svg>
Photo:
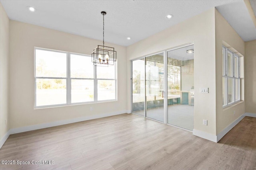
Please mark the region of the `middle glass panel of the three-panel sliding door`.
<svg viewBox="0 0 256 170"><path fill-rule="evenodd" d="M146 117L164 122L164 53L146 57Z"/></svg>

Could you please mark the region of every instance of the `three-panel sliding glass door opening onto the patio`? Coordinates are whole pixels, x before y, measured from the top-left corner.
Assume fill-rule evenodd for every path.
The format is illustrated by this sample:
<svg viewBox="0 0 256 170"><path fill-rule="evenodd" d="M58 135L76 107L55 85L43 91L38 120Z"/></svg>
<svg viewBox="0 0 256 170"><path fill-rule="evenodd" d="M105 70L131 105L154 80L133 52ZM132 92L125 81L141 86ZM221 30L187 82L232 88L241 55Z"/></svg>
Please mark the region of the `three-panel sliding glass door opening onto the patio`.
<svg viewBox="0 0 256 170"><path fill-rule="evenodd" d="M194 129L194 45L132 61L132 112Z"/></svg>

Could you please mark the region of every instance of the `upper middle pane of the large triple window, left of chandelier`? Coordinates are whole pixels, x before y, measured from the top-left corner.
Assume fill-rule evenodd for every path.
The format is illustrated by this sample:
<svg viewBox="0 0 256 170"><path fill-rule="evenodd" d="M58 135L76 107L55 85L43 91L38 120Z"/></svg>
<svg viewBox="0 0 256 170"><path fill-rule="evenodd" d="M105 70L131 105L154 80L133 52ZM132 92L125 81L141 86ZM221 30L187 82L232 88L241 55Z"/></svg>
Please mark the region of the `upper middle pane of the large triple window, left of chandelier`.
<svg viewBox="0 0 256 170"><path fill-rule="evenodd" d="M70 55L71 78L94 78L94 66L91 57Z"/></svg>

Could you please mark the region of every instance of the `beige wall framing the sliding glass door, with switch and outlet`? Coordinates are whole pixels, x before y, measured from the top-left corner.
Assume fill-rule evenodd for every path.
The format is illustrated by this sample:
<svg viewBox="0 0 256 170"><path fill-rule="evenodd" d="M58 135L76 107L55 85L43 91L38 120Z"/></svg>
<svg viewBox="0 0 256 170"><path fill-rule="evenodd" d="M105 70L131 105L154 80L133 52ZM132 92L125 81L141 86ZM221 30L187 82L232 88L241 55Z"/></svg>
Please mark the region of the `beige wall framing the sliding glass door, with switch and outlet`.
<svg viewBox="0 0 256 170"><path fill-rule="evenodd" d="M131 108L130 61L150 53L194 43L194 129L216 134L214 8L127 47L127 107ZM209 93L199 93L208 87ZM202 124L208 120L208 126Z"/></svg>

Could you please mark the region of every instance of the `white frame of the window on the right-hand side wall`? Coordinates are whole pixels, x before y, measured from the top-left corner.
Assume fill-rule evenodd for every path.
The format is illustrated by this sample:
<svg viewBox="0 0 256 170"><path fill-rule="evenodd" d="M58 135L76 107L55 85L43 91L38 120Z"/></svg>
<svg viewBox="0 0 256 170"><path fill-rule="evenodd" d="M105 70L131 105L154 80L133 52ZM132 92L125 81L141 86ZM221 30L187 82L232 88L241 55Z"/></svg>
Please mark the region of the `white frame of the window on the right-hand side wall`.
<svg viewBox="0 0 256 170"><path fill-rule="evenodd" d="M227 47L225 47L224 45L222 45L222 52L224 54L224 56L222 56L222 62L224 62L223 64L223 68L222 68L222 77L225 78L225 89L226 89L226 93L224 95L226 95L226 105L223 105L223 107L227 107L227 106L230 106L232 104L235 104L237 102L240 102L240 91L241 91L241 86L240 86L240 57L235 54L234 52L232 52L230 49L228 49ZM227 55L228 53L231 53L232 55L232 75L231 76L228 76L228 61L227 61ZM235 58L237 57L238 59L238 76L236 77L235 76ZM232 101L233 102L230 102L228 103L228 78L232 78L232 81L233 81L233 90L232 90L232 93L234 94L232 96ZM236 81L235 80L238 80L238 94L236 94ZM223 83L223 82L222 82ZM238 96L238 100L236 100L236 96ZM223 101L222 101L223 102Z"/></svg>

